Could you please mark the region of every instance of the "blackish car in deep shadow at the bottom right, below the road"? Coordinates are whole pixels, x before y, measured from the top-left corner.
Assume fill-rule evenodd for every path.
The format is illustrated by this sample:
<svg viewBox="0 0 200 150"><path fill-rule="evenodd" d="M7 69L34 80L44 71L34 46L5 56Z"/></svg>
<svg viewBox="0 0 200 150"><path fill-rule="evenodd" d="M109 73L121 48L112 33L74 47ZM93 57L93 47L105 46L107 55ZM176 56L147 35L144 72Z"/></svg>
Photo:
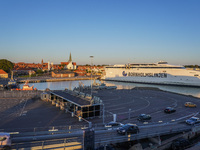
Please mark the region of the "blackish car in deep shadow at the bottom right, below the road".
<svg viewBox="0 0 200 150"><path fill-rule="evenodd" d="M179 139L172 141L171 148L173 150L181 150L181 149L188 148L190 146L190 144L191 143L187 139L179 138Z"/></svg>

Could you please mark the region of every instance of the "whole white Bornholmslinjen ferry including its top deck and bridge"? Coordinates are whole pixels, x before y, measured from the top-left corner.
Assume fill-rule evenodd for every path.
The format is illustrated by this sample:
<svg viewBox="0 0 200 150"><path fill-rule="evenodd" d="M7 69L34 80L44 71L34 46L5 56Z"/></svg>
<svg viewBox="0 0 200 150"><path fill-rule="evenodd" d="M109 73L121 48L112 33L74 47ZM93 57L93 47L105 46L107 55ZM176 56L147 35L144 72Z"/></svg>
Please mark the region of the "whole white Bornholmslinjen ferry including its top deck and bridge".
<svg viewBox="0 0 200 150"><path fill-rule="evenodd" d="M200 87L200 71L188 70L184 66L169 65L164 61L148 64L106 66L105 75L102 79L108 81Z"/></svg>

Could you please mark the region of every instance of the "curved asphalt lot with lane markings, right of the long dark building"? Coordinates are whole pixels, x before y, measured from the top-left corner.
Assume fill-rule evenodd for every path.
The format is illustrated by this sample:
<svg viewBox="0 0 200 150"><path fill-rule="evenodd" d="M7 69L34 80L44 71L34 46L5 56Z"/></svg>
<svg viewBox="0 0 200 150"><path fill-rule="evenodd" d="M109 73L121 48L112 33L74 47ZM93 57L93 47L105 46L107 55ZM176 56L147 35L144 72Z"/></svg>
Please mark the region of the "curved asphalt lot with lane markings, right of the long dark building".
<svg viewBox="0 0 200 150"><path fill-rule="evenodd" d="M99 96L105 104L106 122L113 120L113 114L117 115L119 122L136 124L144 124L137 120L137 117L143 113L150 114L152 117L145 124L182 121L195 114L199 116L199 98L191 96L156 89L99 90L94 95ZM185 102L193 102L197 107L185 107ZM166 114L164 113L166 107L174 107L176 112Z"/></svg>

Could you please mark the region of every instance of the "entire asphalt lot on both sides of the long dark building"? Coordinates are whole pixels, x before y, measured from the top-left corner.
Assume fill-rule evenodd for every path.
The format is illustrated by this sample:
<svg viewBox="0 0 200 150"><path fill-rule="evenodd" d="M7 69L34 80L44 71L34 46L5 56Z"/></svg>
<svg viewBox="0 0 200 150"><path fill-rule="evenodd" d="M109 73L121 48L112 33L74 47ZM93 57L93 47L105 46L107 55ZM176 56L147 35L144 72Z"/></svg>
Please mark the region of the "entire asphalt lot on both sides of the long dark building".
<svg viewBox="0 0 200 150"><path fill-rule="evenodd" d="M199 98L156 89L98 90L93 91L93 95L103 100L104 123L112 121L113 114L116 114L117 121L121 123L135 123L139 126L169 122L185 123L187 118L193 115L199 116ZM65 113L40 99L1 98L0 101L1 131L18 131L19 129L33 131L58 126L81 128L88 125L88 122L80 122L70 113ZM188 101L197 104L197 107L185 107L184 103ZM169 106L174 107L176 112L164 113L164 109ZM152 119L145 122L138 121L137 117L143 113L150 114ZM90 118L88 121L100 126L103 123L103 117Z"/></svg>

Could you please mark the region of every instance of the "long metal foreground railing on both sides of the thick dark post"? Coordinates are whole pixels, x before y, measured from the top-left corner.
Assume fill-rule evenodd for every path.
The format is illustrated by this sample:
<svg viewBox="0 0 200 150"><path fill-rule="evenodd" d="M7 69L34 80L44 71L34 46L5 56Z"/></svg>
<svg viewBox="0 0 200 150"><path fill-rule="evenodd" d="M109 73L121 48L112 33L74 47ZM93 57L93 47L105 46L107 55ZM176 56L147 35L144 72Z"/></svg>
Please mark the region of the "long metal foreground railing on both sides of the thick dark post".
<svg viewBox="0 0 200 150"><path fill-rule="evenodd" d="M70 134L68 132L71 132ZM149 130L138 134L117 135L116 130L98 130L95 131L95 146L106 144L115 144L126 141L140 140L144 138L158 137L167 134L181 133L191 131L191 126L182 128L169 128L162 131ZM67 134L66 134L67 133ZM44 135L45 134L45 135ZM32 147L36 149L82 149L83 147L83 132L82 130L58 130L37 133L35 136L28 137L28 134L23 134L24 137L15 137L12 146L14 149Z"/></svg>

